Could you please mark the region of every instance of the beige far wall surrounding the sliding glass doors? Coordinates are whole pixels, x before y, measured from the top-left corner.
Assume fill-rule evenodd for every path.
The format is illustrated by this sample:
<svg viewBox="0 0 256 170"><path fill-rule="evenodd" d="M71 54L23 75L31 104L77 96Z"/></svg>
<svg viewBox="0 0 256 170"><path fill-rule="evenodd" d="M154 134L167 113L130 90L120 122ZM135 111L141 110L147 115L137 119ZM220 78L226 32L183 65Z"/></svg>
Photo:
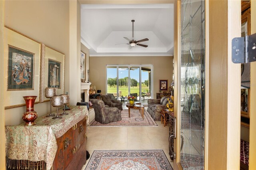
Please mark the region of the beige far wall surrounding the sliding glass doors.
<svg viewBox="0 0 256 170"><path fill-rule="evenodd" d="M154 83L153 93L159 92L159 79L172 82L172 56L168 57L90 57L90 82L106 94L106 65L107 64L153 64Z"/></svg>

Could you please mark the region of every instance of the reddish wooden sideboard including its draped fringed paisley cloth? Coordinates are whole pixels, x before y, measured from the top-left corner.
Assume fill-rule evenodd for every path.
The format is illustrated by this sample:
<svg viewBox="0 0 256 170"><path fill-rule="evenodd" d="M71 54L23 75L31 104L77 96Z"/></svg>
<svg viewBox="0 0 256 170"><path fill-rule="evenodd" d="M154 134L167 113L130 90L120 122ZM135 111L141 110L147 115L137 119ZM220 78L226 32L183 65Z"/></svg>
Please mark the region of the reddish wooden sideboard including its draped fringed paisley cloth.
<svg viewBox="0 0 256 170"><path fill-rule="evenodd" d="M66 113L62 119L38 117L34 126L6 126L6 169L82 169L88 110L70 106Z"/></svg>

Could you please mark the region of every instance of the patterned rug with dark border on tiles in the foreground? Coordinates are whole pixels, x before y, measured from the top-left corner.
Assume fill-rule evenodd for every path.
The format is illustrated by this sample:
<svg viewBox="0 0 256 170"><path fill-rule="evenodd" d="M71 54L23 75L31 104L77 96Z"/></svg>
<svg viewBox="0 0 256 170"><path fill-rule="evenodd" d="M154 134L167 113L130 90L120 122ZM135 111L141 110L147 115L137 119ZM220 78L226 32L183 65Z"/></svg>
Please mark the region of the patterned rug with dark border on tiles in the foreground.
<svg viewBox="0 0 256 170"><path fill-rule="evenodd" d="M85 170L172 170L163 150L94 150Z"/></svg>

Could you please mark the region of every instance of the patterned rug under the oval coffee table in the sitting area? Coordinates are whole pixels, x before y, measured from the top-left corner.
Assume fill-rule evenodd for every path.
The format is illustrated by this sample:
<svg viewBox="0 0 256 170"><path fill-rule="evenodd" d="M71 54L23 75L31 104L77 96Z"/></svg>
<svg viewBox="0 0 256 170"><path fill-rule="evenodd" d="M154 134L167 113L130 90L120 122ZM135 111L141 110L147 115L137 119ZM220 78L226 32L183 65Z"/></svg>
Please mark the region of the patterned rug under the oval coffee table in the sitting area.
<svg viewBox="0 0 256 170"><path fill-rule="evenodd" d="M121 126L138 126L138 127L147 127L147 126L158 126L153 118L149 115L148 111L144 110L144 120L141 117L141 114L138 109L130 109L130 118L128 109L121 111L122 120L118 122L101 124L95 119L90 123L90 126L101 126L101 127L121 127Z"/></svg>

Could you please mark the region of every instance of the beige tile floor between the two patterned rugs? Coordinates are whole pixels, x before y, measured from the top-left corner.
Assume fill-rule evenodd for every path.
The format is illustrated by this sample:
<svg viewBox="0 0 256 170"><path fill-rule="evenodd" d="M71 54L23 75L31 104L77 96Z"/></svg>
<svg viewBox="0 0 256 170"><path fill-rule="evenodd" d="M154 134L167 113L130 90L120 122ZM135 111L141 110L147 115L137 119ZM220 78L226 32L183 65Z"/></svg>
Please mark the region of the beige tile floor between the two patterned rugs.
<svg viewBox="0 0 256 170"><path fill-rule="evenodd" d="M124 104L123 109L127 109ZM168 154L169 126L164 127L161 121L156 123L158 127L90 127L87 129L87 150L92 155L94 150L162 149L173 166ZM86 165L82 170L85 168Z"/></svg>

